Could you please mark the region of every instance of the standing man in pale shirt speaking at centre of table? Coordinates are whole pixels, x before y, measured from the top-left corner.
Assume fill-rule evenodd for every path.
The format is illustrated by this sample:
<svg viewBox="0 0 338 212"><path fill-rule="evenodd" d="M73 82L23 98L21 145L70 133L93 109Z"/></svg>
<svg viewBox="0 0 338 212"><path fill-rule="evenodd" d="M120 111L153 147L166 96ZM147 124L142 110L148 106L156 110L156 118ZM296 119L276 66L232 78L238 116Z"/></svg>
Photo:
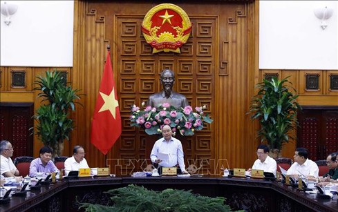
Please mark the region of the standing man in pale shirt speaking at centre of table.
<svg viewBox="0 0 338 212"><path fill-rule="evenodd" d="M171 136L172 131L169 125L163 126L162 135L163 138L158 139L153 145L153 150L150 155L151 162L160 164L162 167L173 167L178 164L180 166L181 173L188 174L185 170L182 143L180 140ZM169 161L162 161L158 159L158 153L169 154Z"/></svg>

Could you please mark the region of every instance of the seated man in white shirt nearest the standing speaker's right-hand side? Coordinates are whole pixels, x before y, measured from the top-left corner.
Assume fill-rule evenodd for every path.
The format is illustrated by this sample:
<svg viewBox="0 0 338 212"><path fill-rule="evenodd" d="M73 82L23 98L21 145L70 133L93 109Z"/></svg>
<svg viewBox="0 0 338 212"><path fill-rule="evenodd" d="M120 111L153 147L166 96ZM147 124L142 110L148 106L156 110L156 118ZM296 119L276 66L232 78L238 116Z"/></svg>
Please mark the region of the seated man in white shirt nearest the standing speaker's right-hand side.
<svg viewBox="0 0 338 212"><path fill-rule="evenodd" d="M257 147L256 153L258 159L254 162L254 165L252 165L252 169L264 170L264 172L270 172L276 176L277 163L272 157L268 155L269 151L269 147L267 147L265 144L260 144ZM251 171L251 169L249 169L249 171Z"/></svg>

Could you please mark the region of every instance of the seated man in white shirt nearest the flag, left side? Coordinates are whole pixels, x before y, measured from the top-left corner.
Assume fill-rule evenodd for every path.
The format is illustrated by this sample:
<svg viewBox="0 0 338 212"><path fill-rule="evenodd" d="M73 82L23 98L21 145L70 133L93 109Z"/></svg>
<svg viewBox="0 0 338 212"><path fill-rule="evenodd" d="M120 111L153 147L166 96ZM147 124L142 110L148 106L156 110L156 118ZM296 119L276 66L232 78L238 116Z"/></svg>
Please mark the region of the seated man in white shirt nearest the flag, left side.
<svg viewBox="0 0 338 212"><path fill-rule="evenodd" d="M68 175L70 171L79 171L79 168L89 168L84 158L84 148L82 146L74 146L73 156L68 157L64 162L64 173Z"/></svg>

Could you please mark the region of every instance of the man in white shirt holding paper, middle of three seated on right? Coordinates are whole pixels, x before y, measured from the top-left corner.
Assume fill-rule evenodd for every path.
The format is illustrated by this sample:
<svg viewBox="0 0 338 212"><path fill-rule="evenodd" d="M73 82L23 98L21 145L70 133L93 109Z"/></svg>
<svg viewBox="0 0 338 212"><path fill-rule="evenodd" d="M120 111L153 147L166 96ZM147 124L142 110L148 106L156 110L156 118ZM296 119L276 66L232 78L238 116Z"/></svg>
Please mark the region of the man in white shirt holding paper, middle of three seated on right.
<svg viewBox="0 0 338 212"><path fill-rule="evenodd" d="M308 159L308 150L306 148L297 148L294 152L294 163L286 174L298 179L299 177L317 178L318 173L317 164Z"/></svg>

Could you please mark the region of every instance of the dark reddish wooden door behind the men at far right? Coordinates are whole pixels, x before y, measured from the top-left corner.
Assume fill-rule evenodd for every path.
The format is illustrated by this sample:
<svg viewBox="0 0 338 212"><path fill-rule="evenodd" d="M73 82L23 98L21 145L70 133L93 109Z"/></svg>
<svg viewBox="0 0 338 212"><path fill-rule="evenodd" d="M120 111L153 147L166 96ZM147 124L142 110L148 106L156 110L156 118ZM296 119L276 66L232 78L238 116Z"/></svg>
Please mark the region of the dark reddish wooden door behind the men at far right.
<svg viewBox="0 0 338 212"><path fill-rule="evenodd" d="M308 148L311 160L338 151L338 109L305 108L298 114L297 147Z"/></svg>

